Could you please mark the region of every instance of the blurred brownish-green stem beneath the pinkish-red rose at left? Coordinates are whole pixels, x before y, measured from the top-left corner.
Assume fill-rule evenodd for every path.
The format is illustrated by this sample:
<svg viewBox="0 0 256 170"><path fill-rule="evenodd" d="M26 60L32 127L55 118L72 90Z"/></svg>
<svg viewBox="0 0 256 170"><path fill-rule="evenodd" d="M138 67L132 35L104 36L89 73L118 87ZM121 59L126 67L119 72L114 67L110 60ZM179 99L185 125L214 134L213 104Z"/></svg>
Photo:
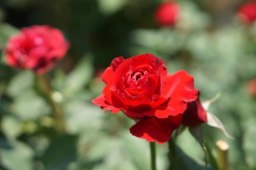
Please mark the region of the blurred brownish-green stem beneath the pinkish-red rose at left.
<svg viewBox="0 0 256 170"><path fill-rule="evenodd" d="M58 133L65 134L66 128L65 128L65 121L63 117L63 110L59 104L53 101L51 97L51 91L52 87L49 83L49 80L44 75L38 75L38 86L40 90L44 93L44 96L46 100L49 102L49 104L52 107L54 118L56 119L56 130Z"/></svg>

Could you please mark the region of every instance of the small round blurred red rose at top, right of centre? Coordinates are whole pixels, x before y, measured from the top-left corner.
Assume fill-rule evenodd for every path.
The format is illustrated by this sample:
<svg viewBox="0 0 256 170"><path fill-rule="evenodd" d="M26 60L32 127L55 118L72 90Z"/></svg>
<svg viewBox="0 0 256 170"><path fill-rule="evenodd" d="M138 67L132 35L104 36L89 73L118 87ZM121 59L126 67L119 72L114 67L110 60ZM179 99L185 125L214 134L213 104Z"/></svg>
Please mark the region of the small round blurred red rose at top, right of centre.
<svg viewBox="0 0 256 170"><path fill-rule="evenodd" d="M155 11L155 22L162 25L172 25L178 18L180 5L176 2L164 2Z"/></svg>

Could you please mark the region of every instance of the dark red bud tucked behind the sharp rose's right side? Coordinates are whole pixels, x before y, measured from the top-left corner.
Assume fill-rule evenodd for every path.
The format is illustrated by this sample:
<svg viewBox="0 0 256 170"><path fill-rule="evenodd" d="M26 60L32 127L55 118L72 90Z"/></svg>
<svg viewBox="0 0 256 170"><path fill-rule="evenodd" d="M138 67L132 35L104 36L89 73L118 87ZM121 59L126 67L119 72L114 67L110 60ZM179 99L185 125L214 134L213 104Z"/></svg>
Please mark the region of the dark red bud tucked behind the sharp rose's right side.
<svg viewBox="0 0 256 170"><path fill-rule="evenodd" d="M184 112L182 124L185 126L196 126L204 122L207 122L207 113L200 102L198 91L198 98L189 103L188 108Z"/></svg>

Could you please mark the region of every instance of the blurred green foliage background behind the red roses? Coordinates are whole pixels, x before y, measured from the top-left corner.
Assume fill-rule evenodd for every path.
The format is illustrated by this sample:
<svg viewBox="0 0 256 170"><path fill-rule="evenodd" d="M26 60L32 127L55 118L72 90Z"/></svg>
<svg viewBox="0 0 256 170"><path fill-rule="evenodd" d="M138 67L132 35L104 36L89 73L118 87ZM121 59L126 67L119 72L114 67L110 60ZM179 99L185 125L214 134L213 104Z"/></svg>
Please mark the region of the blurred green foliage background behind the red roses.
<svg viewBox="0 0 256 170"><path fill-rule="evenodd" d="M236 15L247 1L176 2L176 25L158 27L160 0L1 0L0 170L148 170L149 144L129 133L134 122L90 102L113 58L142 53L164 60L169 73L186 70L202 101L221 91L209 112L235 139L205 126L207 144L214 152L217 140L227 141L230 169L256 170L256 96L248 85L256 78L256 22L245 25ZM71 43L45 75L46 89L32 71L4 62L8 38L33 24L56 27ZM65 132L56 128L58 112ZM204 170L203 150L188 130L176 144L177 170ZM167 144L157 145L157 167L169 169Z"/></svg>

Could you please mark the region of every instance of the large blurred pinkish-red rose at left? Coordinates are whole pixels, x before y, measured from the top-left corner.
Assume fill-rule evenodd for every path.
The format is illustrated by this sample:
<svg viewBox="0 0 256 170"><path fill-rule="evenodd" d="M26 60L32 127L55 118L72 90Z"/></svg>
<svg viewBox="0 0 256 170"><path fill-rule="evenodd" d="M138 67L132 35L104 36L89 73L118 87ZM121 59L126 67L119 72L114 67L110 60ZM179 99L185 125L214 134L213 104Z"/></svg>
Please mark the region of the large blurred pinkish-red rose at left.
<svg viewBox="0 0 256 170"><path fill-rule="evenodd" d="M34 25L22 28L21 33L9 39L5 49L6 61L9 66L43 74L64 57L68 48L69 43L61 31L46 25Z"/></svg>

